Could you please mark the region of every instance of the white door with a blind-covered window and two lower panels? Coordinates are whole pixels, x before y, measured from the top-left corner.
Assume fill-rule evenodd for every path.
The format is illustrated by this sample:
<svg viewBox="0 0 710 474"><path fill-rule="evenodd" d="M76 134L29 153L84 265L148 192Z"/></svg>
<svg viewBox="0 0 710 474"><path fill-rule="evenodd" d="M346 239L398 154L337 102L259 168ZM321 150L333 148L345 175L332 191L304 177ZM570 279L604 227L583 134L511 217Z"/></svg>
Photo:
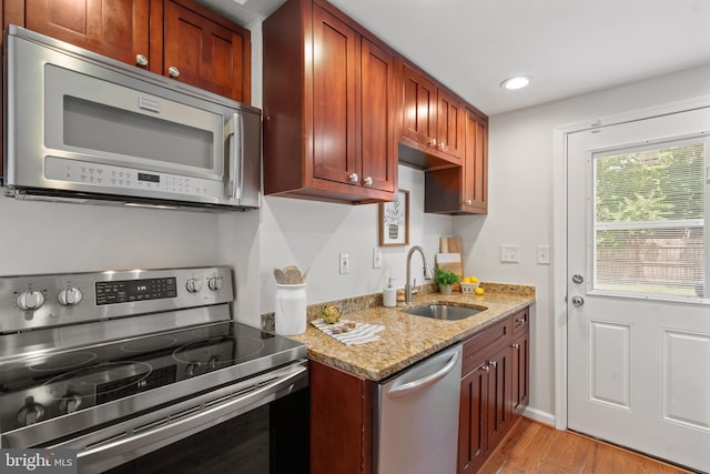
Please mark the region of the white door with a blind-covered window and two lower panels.
<svg viewBox="0 0 710 474"><path fill-rule="evenodd" d="M710 472L710 108L568 135L568 426Z"/></svg>

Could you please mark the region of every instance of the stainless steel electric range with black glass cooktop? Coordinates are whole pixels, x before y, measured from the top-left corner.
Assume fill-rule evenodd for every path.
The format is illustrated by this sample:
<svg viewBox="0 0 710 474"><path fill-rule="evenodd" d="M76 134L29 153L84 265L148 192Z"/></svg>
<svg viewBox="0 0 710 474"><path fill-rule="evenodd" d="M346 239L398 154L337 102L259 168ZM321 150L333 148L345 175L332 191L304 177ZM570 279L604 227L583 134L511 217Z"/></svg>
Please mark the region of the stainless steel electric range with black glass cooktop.
<svg viewBox="0 0 710 474"><path fill-rule="evenodd" d="M80 472L307 472L303 344L233 321L227 266L0 278L0 447Z"/></svg>

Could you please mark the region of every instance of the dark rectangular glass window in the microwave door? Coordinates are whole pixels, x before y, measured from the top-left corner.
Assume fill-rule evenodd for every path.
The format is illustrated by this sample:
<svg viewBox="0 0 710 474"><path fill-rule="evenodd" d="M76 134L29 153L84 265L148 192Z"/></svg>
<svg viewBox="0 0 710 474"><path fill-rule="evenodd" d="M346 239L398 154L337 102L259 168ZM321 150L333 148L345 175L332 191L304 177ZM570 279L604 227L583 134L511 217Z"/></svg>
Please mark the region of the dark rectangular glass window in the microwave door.
<svg viewBox="0 0 710 474"><path fill-rule="evenodd" d="M64 144L213 170L214 134L158 117L64 95Z"/></svg>

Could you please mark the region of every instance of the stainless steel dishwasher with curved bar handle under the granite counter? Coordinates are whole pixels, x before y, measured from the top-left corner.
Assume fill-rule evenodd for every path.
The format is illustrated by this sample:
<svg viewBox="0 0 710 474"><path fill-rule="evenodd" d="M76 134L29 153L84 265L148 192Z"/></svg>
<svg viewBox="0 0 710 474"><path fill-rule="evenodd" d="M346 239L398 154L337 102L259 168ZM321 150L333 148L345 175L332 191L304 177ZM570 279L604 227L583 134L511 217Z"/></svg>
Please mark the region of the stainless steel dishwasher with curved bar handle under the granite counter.
<svg viewBox="0 0 710 474"><path fill-rule="evenodd" d="M462 345L456 344L375 387L375 474L455 474Z"/></svg>

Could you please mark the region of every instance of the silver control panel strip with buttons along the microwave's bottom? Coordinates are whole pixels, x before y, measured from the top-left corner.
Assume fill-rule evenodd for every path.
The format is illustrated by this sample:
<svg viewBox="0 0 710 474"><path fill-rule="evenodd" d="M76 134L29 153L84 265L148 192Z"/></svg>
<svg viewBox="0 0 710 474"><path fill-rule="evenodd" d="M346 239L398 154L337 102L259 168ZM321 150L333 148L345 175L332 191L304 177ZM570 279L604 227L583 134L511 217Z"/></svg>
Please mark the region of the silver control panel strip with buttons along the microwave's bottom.
<svg viewBox="0 0 710 474"><path fill-rule="evenodd" d="M44 177L48 180L95 186L95 192L104 193L111 189L115 189L115 193L120 193L119 190L132 189L217 199L224 192L221 181L58 157L44 159Z"/></svg>

